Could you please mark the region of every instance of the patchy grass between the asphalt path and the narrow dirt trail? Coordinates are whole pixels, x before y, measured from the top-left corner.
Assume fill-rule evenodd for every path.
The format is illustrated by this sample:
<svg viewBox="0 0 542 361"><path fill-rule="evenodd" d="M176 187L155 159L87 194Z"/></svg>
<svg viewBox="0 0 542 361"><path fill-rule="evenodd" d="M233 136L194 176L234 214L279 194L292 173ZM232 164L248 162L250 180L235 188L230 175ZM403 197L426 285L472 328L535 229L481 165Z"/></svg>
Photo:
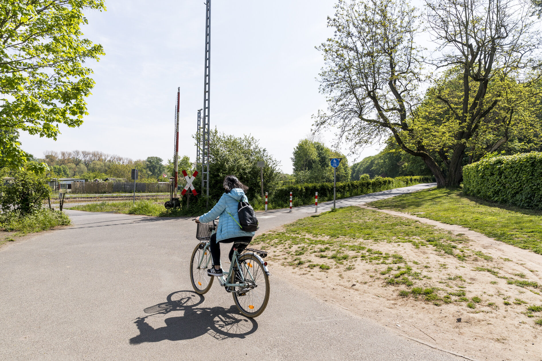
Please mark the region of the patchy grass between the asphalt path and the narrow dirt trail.
<svg viewBox="0 0 542 361"><path fill-rule="evenodd" d="M401 252L399 248L394 248L393 253L379 250L384 244L410 243L415 248L428 247L460 261L488 257L464 247L466 240L416 220L360 207L345 207L300 219L284 225L281 230L262 233L252 244L260 244L263 248L285 248L288 255L284 260L289 266L301 266L308 262L322 269L349 264L356 259L378 264L406 262L403 255L398 253ZM292 248L294 252L288 251ZM302 259L300 256L304 254L312 255L315 259ZM316 259L320 262L316 263ZM334 263L330 265L322 263L322 260Z"/></svg>

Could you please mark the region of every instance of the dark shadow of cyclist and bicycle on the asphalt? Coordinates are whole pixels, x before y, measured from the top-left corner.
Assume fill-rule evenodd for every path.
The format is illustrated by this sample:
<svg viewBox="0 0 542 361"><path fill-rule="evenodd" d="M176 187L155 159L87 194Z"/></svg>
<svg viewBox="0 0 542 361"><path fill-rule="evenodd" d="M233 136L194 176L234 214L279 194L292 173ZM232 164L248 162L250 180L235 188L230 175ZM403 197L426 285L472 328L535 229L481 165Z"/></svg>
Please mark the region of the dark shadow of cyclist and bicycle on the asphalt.
<svg viewBox="0 0 542 361"><path fill-rule="evenodd" d="M258 328L254 319L242 316L235 306L229 309L197 307L203 300L204 297L195 292L177 291L167 296L167 302L147 307L144 312L149 315L138 317L134 321L139 334L130 339L130 344L186 340L205 333L217 339L244 338ZM175 312L172 314L173 317L164 319L166 325L163 327L154 329L147 323L149 317L172 312Z"/></svg>

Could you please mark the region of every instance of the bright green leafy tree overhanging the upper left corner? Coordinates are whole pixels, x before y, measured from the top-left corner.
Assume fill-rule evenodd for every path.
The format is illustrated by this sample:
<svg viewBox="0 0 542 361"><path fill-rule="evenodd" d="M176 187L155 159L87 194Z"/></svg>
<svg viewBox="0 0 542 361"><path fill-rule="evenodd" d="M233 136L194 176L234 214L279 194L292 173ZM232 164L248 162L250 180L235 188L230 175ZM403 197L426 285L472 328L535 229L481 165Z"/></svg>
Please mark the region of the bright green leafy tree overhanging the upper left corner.
<svg viewBox="0 0 542 361"><path fill-rule="evenodd" d="M102 0L0 3L0 167L21 168L28 161L18 132L56 140L59 124L82 124L94 86L92 69L83 63L104 55L101 45L82 38L87 9L105 7Z"/></svg>

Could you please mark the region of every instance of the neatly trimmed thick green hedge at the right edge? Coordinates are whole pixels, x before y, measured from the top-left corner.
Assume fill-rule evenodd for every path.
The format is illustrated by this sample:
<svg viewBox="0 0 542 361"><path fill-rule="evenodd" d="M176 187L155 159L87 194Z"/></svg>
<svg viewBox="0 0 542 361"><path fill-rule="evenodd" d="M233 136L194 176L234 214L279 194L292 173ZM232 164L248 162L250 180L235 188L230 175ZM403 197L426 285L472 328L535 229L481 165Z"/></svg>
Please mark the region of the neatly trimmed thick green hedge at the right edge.
<svg viewBox="0 0 542 361"><path fill-rule="evenodd" d="M463 192L501 204L542 209L542 152L496 156L464 166Z"/></svg>

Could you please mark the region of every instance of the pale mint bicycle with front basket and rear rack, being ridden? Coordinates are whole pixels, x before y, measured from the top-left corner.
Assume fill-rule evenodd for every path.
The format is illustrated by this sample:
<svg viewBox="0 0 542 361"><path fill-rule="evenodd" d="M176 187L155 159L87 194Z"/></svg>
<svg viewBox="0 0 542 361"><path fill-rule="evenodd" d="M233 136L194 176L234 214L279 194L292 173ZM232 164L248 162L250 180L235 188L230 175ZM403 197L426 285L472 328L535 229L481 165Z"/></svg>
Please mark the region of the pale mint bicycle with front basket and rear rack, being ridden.
<svg viewBox="0 0 542 361"><path fill-rule="evenodd" d="M208 268L212 267L209 245L214 231L216 231L216 221L212 221L212 224L197 224L196 238L201 242L192 252L190 279L194 291L198 294L207 293L215 279L207 274ZM263 258L267 257L267 252L245 248L240 254L237 251L240 245L246 245L246 243L234 243L234 254L229 271L223 271L224 275L216 278L227 292L231 292L237 309L244 316L252 318L260 316L269 301L270 273L267 262L263 261Z"/></svg>

